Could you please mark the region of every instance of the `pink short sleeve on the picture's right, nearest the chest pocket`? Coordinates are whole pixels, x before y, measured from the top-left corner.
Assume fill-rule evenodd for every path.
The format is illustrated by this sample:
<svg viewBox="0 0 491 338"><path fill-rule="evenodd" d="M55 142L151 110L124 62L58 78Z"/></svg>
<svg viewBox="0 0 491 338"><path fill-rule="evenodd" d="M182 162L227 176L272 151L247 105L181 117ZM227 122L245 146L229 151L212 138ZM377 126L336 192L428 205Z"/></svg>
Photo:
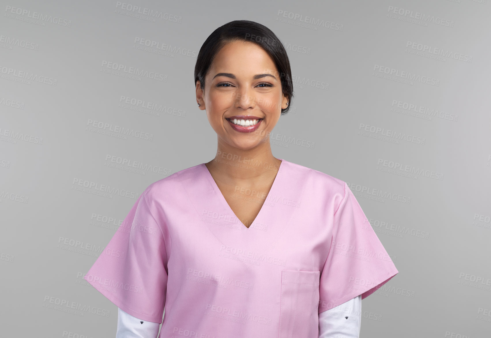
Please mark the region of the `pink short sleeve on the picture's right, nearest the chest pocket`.
<svg viewBox="0 0 491 338"><path fill-rule="evenodd" d="M362 299L368 297L398 272L345 182L321 272L319 313L360 294Z"/></svg>

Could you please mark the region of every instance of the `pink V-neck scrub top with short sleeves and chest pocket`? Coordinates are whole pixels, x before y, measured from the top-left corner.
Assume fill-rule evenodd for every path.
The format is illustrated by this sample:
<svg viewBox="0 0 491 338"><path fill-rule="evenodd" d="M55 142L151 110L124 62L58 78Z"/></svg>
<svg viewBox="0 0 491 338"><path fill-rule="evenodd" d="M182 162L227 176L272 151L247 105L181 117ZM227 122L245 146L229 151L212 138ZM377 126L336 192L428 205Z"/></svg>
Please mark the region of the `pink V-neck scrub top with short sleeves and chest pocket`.
<svg viewBox="0 0 491 338"><path fill-rule="evenodd" d="M84 279L159 338L318 338L398 270L346 182L281 160L249 228L204 163L150 184Z"/></svg>

